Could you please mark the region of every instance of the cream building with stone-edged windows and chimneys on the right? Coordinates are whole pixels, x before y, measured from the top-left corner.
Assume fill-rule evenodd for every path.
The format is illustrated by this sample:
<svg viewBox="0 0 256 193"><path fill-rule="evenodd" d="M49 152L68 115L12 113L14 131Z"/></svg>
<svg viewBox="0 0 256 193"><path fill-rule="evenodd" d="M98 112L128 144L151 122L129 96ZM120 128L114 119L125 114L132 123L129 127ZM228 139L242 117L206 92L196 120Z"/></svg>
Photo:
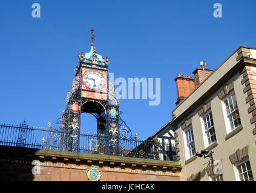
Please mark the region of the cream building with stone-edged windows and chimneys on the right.
<svg viewBox="0 0 256 193"><path fill-rule="evenodd" d="M239 46L214 71L202 62L193 74L177 75L177 106L154 135L174 132L181 180L255 180L256 48ZM201 154L211 151L215 163Z"/></svg>

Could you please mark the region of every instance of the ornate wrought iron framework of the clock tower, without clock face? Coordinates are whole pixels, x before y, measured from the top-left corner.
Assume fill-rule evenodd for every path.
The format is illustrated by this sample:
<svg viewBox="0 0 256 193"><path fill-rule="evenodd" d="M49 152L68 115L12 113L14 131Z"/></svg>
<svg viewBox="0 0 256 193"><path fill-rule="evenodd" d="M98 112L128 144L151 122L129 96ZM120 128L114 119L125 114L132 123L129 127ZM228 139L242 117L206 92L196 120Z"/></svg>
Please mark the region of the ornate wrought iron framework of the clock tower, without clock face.
<svg viewBox="0 0 256 193"><path fill-rule="evenodd" d="M81 113L91 113L97 120L97 135L105 136L98 143L100 147L105 147L105 151L113 152L113 149L119 150L122 148L122 140L137 140L137 136L133 136L129 127L120 118L119 101L116 100L114 84L109 81L107 75L109 60L107 57L103 57L97 54L97 50L93 48L93 35L94 29L91 28L91 51L83 54L78 54L79 63L74 71L76 75L73 78L71 90L68 92L65 109L62 112L60 130L64 134L61 136L62 146L67 151L79 151L80 150L80 117ZM82 93L85 91L91 93L91 95L101 95L99 90L91 90L85 87L83 80L83 72L86 69L90 71L101 71L107 76L105 84L107 84L107 90L105 94L107 98L88 98L87 95ZM87 71L88 72L88 71ZM85 73L86 74L86 73ZM100 74L100 73L99 73ZM90 78L94 80L95 79ZM105 79L104 79L105 80ZM84 84L82 84L84 83ZM87 82L88 83L88 82ZM105 85L104 84L104 85ZM82 86L84 85L84 87ZM76 110L73 109L76 107ZM105 141L103 141L103 139Z"/></svg>

